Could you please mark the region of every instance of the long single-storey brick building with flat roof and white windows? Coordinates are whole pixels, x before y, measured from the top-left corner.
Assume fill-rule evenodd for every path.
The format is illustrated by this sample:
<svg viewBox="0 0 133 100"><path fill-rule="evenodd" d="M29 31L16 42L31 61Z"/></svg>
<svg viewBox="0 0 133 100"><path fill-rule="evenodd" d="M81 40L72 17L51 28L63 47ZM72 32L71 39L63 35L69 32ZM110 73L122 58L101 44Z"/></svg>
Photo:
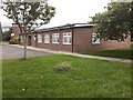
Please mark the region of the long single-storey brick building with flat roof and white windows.
<svg viewBox="0 0 133 100"><path fill-rule="evenodd" d="M28 34L27 44L50 50L85 52L90 50L108 50L126 48L130 46L130 37L122 42L114 40L100 40L94 32L94 24L66 24L32 31ZM20 34L20 44L23 44Z"/></svg>

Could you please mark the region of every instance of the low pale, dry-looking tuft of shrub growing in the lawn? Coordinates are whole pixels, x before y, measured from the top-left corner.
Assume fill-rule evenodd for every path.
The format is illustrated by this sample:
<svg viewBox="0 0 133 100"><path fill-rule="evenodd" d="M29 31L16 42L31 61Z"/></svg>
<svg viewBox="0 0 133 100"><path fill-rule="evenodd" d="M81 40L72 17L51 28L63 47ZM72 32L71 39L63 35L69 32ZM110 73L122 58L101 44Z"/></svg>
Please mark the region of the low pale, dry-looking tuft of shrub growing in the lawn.
<svg viewBox="0 0 133 100"><path fill-rule="evenodd" d="M69 71L73 69L69 62L61 62L57 66L55 70L57 71Z"/></svg>

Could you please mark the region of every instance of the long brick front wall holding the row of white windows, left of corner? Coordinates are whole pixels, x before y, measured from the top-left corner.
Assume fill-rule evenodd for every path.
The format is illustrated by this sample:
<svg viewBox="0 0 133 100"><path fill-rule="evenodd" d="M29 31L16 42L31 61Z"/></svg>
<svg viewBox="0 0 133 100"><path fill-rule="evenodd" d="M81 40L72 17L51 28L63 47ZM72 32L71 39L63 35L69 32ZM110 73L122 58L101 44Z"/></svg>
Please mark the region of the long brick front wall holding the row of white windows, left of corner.
<svg viewBox="0 0 133 100"><path fill-rule="evenodd" d="M60 50L60 51L70 51L71 52L71 44L63 44L62 38L63 38L63 32L71 32L71 29L69 30L54 30L54 31L47 31L47 32L40 32L38 34L42 36L42 43L38 43L38 48L44 48L44 49L50 49L50 50ZM44 33L50 34L50 43L44 43ZM52 43L52 33L59 33L59 43ZM32 38L32 47L35 47L35 41L33 40L33 34L31 36ZM38 38L37 38L38 41Z"/></svg>

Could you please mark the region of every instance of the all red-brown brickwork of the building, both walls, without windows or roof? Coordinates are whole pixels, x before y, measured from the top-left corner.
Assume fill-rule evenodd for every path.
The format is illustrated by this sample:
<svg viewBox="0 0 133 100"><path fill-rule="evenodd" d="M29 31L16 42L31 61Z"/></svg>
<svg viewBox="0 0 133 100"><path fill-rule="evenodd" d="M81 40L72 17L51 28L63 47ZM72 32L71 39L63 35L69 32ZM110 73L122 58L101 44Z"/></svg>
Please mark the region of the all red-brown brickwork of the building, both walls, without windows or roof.
<svg viewBox="0 0 133 100"><path fill-rule="evenodd" d="M72 32L72 29L61 29L61 30L51 30L45 32L39 32L38 34L42 36L42 43L38 43L33 39L35 33L31 33L31 46L38 48L44 48L50 50L60 50L60 51L72 51L72 44L63 44L63 32ZM44 43L44 33L50 34L50 43ZM52 33L59 33L59 43L52 43ZM73 51L74 52L85 52L90 50L106 50L106 49L119 49L126 48L130 46L130 37L124 42L117 41L101 41L100 44L92 44L92 33L93 28L74 28L73 29ZM37 34L37 37L38 37Z"/></svg>

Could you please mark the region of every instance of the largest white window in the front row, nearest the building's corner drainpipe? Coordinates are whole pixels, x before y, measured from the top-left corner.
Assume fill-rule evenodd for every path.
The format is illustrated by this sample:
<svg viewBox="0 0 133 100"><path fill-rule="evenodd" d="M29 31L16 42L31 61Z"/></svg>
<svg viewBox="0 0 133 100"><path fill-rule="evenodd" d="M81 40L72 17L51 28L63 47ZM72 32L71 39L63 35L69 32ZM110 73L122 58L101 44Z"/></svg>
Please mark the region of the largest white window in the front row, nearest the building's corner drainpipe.
<svg viewBox="0 0 133 100"><path fill-rule="evenodd" d="M71 44L72 43L72 33L63 33L63 44Z"/></svg>

